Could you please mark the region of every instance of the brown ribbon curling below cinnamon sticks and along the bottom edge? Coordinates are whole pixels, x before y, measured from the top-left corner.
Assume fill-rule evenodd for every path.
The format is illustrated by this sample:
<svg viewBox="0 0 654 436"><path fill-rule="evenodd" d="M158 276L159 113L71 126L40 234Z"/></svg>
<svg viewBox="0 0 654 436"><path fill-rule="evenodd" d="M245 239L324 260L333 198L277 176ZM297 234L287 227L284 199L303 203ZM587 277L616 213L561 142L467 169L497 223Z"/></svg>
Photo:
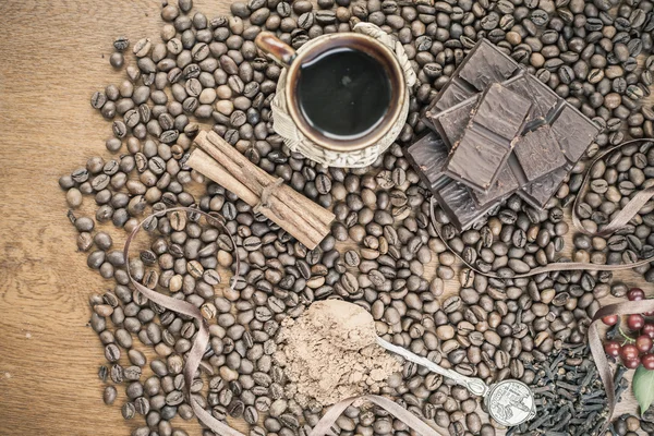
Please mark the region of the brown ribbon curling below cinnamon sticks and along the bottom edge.
<svg viewBox="0 0 654 436"><path fill-rule="evenodd" d="M275 183L271 184L271 186L274 186L274 185L275 185ZM241 261L240 261L239 254L235 250L237 242L234 241L233 237L230 234L230 232L225 227L225 225L222 223L222 221L220 220L220 218L217 214L216 214L216 216L214 216L214 215L204 213L202 210L197 210L197 209L193 209L193 208L189 208L189 207L173 207L170 209L157 211L157 213L148 216L147 218L145 218L143 221L141 221L138 223L138 226L136 226L134 228L134 230L132 230L132 232L128 237L128 240L125 241L125 246L123 249L123 254L124 254L125 262L126 262L126 272L128 272L128 276L130 277L130 281L132 282L134 288L136 288L136 290L138 292L141 292L142 294L144 294L148 300L153 301L154 303L156 303L162 307L168 308L169 311L173 311L173 312L180 313L182 315L190 316L190 317L194 318L197 322L197 324L199 325L197 335L195 336L195 340L193 341L193 347L186 354L186 363L184 364L184 368L183 368L184 393L186 396L186 400L189 401L189 403L191 404L191 408L193 409L193 412L195 413L195 416L197 416L197 420L201 423L203 423L204 425L206 425L207 427L209 427L214 433L216 433L219 436L245 436L241 432L239 432L239 431L230 427L226 423L220 422L217 419L215 419L191 395L191 386L193 385L193 378L195 376L195 372L199 367L202 358L203 358L205 350L207 349L207 346L209 343L209 325L208 325L207 320L202 316L202 313L199 312L199 310L196 306L194 306L193 304L187 303L183 300L177 300L171 296L166 296L153 289L146 288L145 286L137 282L134 279L134 277L132 277L132 274L130 272L130 257L129 257L130 246L131 246L134 238L136 237L136 233L138 232L138 230L141 230L144 226L149 225L150 220L153 218L160 217L160 216L162 216L167 213L171 213L171 211L184 211L184 213L187 213L189 215L198 214L201 216L204 216L207 220L207 223L219 228L223 233L226 233L230 238L232 246L234 249L234 254L237 257L237 265L235 265L234 276L232 278L232 284L231 284L231 289L232 290L234 289L234 287L237 284L237 279L238 279L238 277L240 275L240 270L241 270ZM327 413L320 419L320 421L318 421L315 428L311 432L310 436L327 435L330 432L330 429L332 428L334 424L336 423L336 420L338 420L338 417L341 415L341 413L358 399L365 399L365 400L368 400L368 401L384 408L386 411L393 414L398 420L402 421L409 427L413 428L415 432L417 432L419 434L421 434L423 436L443 436L443 434L440 434L440 433L436 432L434 428L429 427L420 417L417 417L413 413L409 412L407 409L402 408L401 405L397 404L396 402L393 402L387 398L379 397L379 396L373 396L373 395L366 395L366 396L362 396L362 397L352 397L352 398L348 398L343 401L340 401L340 402L334 404L327 411Z"/></svg>

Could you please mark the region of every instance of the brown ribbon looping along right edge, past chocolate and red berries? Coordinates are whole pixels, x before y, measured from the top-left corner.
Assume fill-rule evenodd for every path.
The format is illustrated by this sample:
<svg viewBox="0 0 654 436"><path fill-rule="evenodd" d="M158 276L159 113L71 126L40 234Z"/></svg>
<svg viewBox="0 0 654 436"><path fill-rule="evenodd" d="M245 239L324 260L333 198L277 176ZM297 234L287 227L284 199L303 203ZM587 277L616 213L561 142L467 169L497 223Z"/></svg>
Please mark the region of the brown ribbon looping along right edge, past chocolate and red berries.
<svg viewBox="0 0 654 436"><path fill-rule="evenodd" d="M632 145L632 144L638 144L638 143L652 143L654 145L654 140L640 138L640 140L628 141L626 143L622 143L620 145L617 145L615 147L607 149L606 152L604 152L603 154L597 156L589 166L589 170L586 171L586 173L583 178L579 193L577 194L577 197L574 198L574 203L572 205L572 225L574 226L574 228L577 230L579 230L583 234L586 234L589 237L605 237L605 235L615 233L617 230L620 230L623 226L626 226L638 214L638 211L654 196L654 186L650 186L642 191L639 191L629 201L629 203L627 203L627 205L618 214L616 214L614 219L608 225L606 225L602 230L600 230L597 232L591 232L591 231L588 231L586 229L584 229L583 226L581 225L581 220L577 216L577 208L579 206L579 201L588 192L589 181L591 179L591 177L590 177L591 170L595 166L595 164L597 164L600 160L604 159L609 154L611 154L622 147L626 147L626 146ZM468 268L472 269L473 271L481 274L483 276L486 276L486 277L500 278L498 275L496 275L494 272L484 272L484 271L480 270L479 268L475 268L473 265L465 262L456 251L453 251L449 246L446 239L443 238L443 235L440 234L440 225L438 222L436 222L436 219L434 216L435 204L436 204L436 201L434 199L434 197L432 197L431 205L429 205L431 206L429 220L432 222L432 226L434 226L434 230L438 234L438 238L440 238L440 240L443 241L445 246L450 252L452 252L452 254L455 256L457 256L459 258L459 261L461 261L461 263L463 263L463 265L465 265ZM555 263L555 264L549 264L546 266L533 268L532 270L530 270L526 274L516 275L511 278L524 278L524 277L540 275L543 272L553 272L553 271L571 271L571 270L617 271L617 270L622 270L622 269L637 268L639 266L643 266L643 265L650 264L652 262L654 262L654 256L650 256L650 257L641 259L639 262L634 262L634 263L630 263L630 264L621 264L621 265L598 265L598 264L590 264L590 263L584 263L584 262ZM614 411L615 411L617 399L615 397L615 384L614 384L613 373L610 370L610 365L608 364L608 360L606 359L606 354L604 353L604 347L602 346L602 338L600 336L600 330L597 328L597 322L608 315L630 315L630 314L634 314L634 313L640 314L640 313L653 312L653 311L654 311L654 299L651 299L651 300L644 300L644 301L632 301L632 302L609 304L604 307L601 307L597 311L597 313L595 313L595 315L593 316L591 326L589 328L589 344L591 348L591 354L593 355L593 361L595 362L595 365L597 366L597 373L600 374L600 378L602 379L602 382L604 384L604 388L606 390L606 398L608 400L608 416L607 416L606 423L604 425L604 429L606 429L606 427L610 423L610 420L611 420Z"/></svg>

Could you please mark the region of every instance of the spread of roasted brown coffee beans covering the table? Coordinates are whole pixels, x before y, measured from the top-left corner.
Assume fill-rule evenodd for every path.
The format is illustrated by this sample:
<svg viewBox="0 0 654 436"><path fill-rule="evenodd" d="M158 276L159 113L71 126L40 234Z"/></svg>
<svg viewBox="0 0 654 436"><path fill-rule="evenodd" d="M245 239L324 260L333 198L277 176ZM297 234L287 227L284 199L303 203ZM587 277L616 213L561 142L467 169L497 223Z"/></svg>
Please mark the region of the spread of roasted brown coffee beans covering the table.
<svg viewBox="0 0 654 436"><path fill-rule="evenodd" d="M132 290L128 263L148 288L202 310L211 339L203 376L191 388L194 399L218 419L242 419L251 436L305 435L324 412L317 403L303 409L287 398L276 334L284 317L327 298L362 305L380 336L443 366L488 383L511 377L537 386L538 367L584 343L598 300L628 290L611 286L610 272L513 278L561 257L569 232L564 210L580 190L585 161L545 210L512 197L462 233L436 210L447 246L476 269L500 277L492 279L460 268L429 225L428 193L402 147L426 132L424 109L481 37L604 129L589 157L629 137L652 136L654 110L642 97L650 94L654 57L642 65L637 57L652 49L653 9L644 0L318 0L317 7L308 0L249 0L232 3L229 16L208 17L192 0L179 0L161 10L160 37L118 37L109 60L124 69L125 80L90 99L111 121L110 155L93 157L59 180L80 251L87 253L90 268L112 280L112 289L90 296L90 326L108 361L99 370L108 383L105 402L120 398L125 420L144 416L135 436L182 436L174 417L194 417L182 395L181 371L197 326ZM290 153L274 132L270 102L281 69L253 40L267 29L299 48L360 21L396 35L419 83L397 143L372 167L325 168ZM185 166L199 123L330 208L337 217L331 235L307 250ZM580 207L586 229L601 228L649 185L650 147L622 148L592 169L591 192ZM76 211L88 198L95 216ZM237 246L194 214L168 214L145 226L149 245L124 258L124 234L111 225L129 232L152 211L180 205L219 213ZM608 239L576 235L574 259L646 257L654 245L651 215L641 210L633 226ZM235 256L243 268L231 291L226 283ZM437 265L436 277L426 265ZM641 272L654 279L649 267ZM444 296L445 283L457 279L460 291ZM580 350L574 359L585 361L588 350ZM388 382L385 395L451 435L492 436L501 428L479 410L480 399L423 367L405 363ZM617 434L635 428L632 422L617 421ZM367 404L348 408L337 426L343 436L409 435L405 424Z"/></svg>

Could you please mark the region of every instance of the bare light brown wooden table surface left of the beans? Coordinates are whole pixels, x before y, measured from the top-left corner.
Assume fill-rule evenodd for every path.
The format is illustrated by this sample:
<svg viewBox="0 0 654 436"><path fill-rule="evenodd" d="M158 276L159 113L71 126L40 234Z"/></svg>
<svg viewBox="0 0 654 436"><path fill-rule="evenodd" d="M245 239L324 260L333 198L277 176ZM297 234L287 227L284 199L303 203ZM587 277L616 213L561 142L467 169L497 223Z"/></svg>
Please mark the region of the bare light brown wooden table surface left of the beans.
<svg viewBox="0 0 654 436"><path fill-rule="evenodd" d="M110 125L89 97L124 77L108 61L117 36L158 38L159 8L145 0L0 2L0 435L116 436L143 423L102 403L105 358L87 325L88 295L112 282L76 253L57 181L92 156L109 156ZM196 9L228 13L229 1L198 0ZM85 198L82 210L94 210L92 203ZM634 412L633 400L620 410ZM195 422L181 426L199 435Z"/></svg>

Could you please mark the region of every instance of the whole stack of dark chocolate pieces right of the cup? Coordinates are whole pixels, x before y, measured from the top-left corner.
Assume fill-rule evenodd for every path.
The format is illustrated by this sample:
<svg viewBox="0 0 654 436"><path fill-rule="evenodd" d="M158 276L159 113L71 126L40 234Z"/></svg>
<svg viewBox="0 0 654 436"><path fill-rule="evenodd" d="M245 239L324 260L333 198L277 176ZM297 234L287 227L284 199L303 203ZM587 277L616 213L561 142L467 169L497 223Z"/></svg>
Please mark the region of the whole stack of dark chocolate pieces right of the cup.
<svg viewBox="0 0 654 436"><path fill-rule="evenodd" d="M425 114L434 130L404 153L464 230L517 194L543 208L600 128L487 39Z"/></svg>

